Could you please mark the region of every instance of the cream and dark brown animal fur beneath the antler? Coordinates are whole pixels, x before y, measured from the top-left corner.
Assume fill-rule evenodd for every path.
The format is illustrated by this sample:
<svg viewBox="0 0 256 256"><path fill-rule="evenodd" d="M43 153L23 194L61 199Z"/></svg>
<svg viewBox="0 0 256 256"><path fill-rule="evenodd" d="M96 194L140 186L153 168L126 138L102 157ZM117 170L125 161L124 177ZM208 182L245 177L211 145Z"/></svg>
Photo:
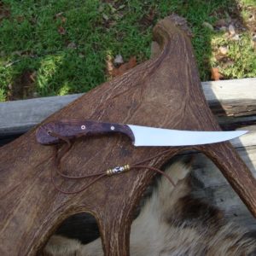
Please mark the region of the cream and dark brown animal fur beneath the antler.
<svg viewBox="0 0 256 256"><path fill-rule="evenodd" d="M217 207L191 194L189 171L181 162L167 168L175 187L165 177L160 178L131 225L131 256L256 255L256 241L246 230L227 222ZM102 242L98 238L83 245L77 240L52 236L44 255L100 256Z"/></svg>

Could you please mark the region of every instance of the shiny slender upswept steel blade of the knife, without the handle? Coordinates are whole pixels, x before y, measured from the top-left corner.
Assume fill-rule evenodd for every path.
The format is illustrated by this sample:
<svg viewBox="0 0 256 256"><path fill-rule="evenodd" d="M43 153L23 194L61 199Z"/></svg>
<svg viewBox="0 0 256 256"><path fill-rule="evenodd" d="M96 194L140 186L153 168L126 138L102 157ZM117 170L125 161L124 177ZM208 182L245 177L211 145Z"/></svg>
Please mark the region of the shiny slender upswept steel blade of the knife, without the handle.
<svg viewBox="0 0 256 256"><path fill-rule="evenodd" d="M220 143L239 137L247 131L180 131L128 125L135 137L135 146L191 146Z"/></svg>

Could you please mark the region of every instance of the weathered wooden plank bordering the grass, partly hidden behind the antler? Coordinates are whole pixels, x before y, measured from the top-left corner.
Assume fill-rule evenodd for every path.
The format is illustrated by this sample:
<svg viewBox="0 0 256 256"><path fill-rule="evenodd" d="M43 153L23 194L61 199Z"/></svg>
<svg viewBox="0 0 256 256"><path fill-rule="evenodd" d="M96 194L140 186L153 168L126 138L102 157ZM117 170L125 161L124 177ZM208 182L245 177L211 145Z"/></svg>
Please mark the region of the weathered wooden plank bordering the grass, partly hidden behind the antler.
<svg viewBox="0 0 256 256"><path fill-rule="evenodd" d="M256 113L256 79L203 82L202 88L212 112L219 116ZM1 102L0 134L24 133L79 96L82 94Z"/></svg>

